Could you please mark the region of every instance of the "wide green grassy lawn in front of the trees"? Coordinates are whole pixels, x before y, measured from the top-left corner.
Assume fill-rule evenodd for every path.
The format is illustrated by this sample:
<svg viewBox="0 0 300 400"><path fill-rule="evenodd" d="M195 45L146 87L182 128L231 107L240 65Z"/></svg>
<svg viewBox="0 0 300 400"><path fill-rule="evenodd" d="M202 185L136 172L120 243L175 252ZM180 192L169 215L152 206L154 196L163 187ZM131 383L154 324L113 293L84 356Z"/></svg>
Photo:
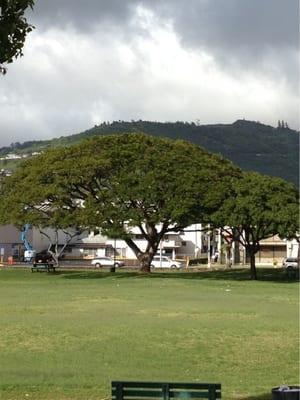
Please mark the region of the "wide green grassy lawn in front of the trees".
<svg viewBox="0 0 300 400"><path fill-rule="evenodd" d="M0 399L109 399L111 380L297 384L298 284L281 270L0 270Z"/></svg>

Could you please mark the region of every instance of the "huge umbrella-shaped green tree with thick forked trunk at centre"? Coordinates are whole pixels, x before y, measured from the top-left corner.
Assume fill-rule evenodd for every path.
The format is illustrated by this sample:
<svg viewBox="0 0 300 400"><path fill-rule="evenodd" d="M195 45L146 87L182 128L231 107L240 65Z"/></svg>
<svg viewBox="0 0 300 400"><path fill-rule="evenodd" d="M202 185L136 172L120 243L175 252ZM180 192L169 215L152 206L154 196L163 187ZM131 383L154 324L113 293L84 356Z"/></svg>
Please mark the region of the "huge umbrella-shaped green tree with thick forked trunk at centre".
<svg viewBox="0 0 300 400"><path fill-rule="evenodd" d="M207 220L239 174L231 162L189 142L135 133L46 152L23 164L11 182L18 213L44 203L69 210L70 223L124 239L141 269L150 271L164 235ZM133 227L145 250L134 241Z"/></svg>

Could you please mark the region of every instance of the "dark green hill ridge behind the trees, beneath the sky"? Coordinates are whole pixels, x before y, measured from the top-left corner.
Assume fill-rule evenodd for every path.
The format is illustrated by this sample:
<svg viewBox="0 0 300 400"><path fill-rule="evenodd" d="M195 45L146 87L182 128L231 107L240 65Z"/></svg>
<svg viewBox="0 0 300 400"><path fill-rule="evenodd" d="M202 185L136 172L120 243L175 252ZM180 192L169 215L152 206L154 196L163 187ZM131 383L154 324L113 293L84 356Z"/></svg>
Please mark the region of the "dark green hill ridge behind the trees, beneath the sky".
<svg viewBox="0 0 300 400"><path fill-rule="evenodd" d="M85 132L47 141L31 141L0 149L26 153L49 147L68 146L84 138L112 133L145 132L185 139L229 158L244 170L279 176L299 184L299 134L288 128L273 128L258 122L238 120L233 124L196 125L185 122L117 121L103 123Z"/></svg>

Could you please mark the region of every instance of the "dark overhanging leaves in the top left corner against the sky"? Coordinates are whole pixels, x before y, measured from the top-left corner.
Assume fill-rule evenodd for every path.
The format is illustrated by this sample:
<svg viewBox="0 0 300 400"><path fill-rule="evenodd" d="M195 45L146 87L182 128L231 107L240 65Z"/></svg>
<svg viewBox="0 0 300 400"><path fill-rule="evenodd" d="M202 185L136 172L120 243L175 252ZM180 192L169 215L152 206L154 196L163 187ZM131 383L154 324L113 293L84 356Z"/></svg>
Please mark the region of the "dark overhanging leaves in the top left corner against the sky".
<svg viewBox="0 0 300 400"><path fill-rule="evenodd" d="M33 26L27 22L25 12L34 0L0 0L0 72L5 73L5 63L23 55L26 36Z"/></svg>

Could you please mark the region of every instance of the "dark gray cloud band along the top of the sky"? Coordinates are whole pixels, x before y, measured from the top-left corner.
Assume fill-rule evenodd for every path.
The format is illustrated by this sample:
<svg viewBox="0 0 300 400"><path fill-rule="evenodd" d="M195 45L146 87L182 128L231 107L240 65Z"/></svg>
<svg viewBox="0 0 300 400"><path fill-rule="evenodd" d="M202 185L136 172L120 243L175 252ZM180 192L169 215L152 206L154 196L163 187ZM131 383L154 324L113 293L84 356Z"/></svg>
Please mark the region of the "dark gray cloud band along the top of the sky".
<svg viewBox="0 0 300 400"><path fill-rule="evenodd" d="M183 46L209 52L227 70L284 75L297 85L298 0L44 0L34 19L40 29L71 25L86 35L104 25L130 40L145 34L131 21L137 6L169 21Z"/></svg>

